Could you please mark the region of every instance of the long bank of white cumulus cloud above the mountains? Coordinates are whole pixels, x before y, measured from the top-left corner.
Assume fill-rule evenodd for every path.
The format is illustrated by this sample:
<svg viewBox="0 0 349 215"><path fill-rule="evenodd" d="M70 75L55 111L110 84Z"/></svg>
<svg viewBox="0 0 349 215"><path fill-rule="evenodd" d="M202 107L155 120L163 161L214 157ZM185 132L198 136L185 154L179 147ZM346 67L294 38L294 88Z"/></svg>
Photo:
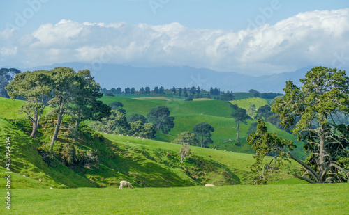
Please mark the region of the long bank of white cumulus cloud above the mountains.
<svg viewBox="0 0 349 215"><path fill-rule="evenodd" d="M12 33L6 29L0 38L11 40ZM0 43L0 54L17 56L13 63L22 67L99 61L267 74L308 65L331 67L336 56L349 56L348 47L349 9L343 9L299 13L274 25L238 32L190 29L179 23L151 26L61 20L43 24L10 45Z"/></svg>

